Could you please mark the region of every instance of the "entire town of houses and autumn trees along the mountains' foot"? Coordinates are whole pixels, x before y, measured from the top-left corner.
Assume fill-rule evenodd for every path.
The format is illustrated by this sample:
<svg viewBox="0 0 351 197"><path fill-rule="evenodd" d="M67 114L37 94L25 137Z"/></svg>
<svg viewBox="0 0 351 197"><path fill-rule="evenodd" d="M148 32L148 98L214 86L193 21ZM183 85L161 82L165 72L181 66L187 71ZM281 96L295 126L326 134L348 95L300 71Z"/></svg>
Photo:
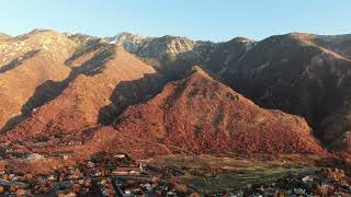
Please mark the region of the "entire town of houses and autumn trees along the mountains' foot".
<svg viewBox="0 0 351 197"><path fill-rule="evenodd" d="M23 155L22 155L23 157ZM33 153L30 160L45 160ZM178 177L197 174L189 167L171 164L138 163L125 153L101 152L75 166L57 169L49 174L21 174L11 166L0 172L2 196L348 196L350 178L343 170L319 169L301 172L264 184L247 183L223 192L204 192ZM213 176L225 174L210 167ZM211 181L207 181L211 182Z"/></svg>

